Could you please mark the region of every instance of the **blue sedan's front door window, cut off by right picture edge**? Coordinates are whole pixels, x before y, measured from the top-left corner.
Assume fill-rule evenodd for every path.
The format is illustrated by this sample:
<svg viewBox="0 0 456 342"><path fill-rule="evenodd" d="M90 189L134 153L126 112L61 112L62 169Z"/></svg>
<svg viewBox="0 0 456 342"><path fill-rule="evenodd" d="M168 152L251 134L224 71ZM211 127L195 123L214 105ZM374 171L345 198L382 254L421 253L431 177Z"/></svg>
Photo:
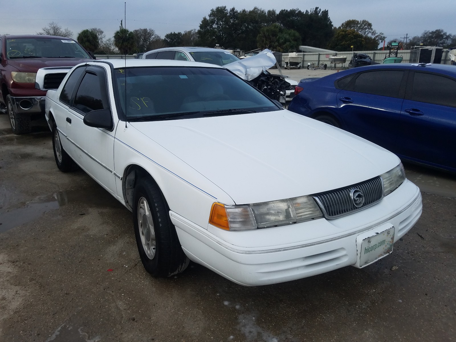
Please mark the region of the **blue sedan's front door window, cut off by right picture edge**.
<svg viewBox="0 0 456 342"><path fill-rule="evenodd" d="M412 101L456 107L456 81L430 73L416 73Z"/></svg>

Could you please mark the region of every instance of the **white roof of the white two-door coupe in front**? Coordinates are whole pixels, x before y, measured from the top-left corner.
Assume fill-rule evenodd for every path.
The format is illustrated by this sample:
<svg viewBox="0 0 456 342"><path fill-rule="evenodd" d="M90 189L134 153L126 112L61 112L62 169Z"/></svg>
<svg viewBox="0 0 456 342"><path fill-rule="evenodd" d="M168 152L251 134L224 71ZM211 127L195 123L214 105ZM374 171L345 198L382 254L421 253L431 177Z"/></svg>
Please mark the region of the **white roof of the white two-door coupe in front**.
<svg viewBox="0 0 456 342"><path fill-rule="evenodd" d="M110 63L115 69L122 67L216 67L223 69L223 67L215 64L176 61L173 59L97 59L96 61L89 62L89 64L95 64L98 62Z"/></svg>

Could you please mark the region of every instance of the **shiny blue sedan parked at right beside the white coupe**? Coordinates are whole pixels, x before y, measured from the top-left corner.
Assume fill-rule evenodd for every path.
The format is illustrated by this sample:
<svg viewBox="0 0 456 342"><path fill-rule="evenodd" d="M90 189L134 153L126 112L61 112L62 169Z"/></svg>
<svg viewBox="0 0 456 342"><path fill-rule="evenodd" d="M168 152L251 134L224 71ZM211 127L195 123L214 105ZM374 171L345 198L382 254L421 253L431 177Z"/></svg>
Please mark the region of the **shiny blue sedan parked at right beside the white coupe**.
<svg viewBox="0 0 456 342"><path fill-rule="evenodd" d="M303 79L289 110L456 172L456 67L379 64Z"/></svg>

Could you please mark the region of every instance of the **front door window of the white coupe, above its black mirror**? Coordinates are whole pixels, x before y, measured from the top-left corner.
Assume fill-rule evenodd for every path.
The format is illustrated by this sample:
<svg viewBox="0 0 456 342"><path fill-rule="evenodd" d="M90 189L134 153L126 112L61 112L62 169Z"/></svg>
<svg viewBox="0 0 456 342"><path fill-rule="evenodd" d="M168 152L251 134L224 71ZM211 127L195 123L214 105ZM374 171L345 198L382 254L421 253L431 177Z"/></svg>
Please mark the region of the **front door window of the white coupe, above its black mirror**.
<svg viewBox="0 0 456 342"><path fill-rule="evenodd" d="M86 72L74 97L73 107L84 114L97 109L107 109L103 101L102 82L100 76Z"/></svg>

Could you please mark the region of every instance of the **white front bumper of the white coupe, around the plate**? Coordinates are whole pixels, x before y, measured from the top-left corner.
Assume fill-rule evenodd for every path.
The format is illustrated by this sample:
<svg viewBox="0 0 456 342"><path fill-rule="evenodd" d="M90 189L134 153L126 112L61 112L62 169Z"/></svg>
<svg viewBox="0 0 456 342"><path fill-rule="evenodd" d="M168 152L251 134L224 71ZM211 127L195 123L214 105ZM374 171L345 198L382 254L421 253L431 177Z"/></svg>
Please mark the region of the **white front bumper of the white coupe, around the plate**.
<svg viewBox="0 0 456 342"><path fill-rule="evenodd" d="M192 261L239 285L255 286L356 266L358 235L389 223L395 227L396 242L418 221L421 211L420 190L406 180L376 205L334 220L238 232L220 232L214 227L218 231L211 233L211 227L198 227L175 212L170 216L182 248ZM231 237L229 242L220 237L224 234ZM320 238L315 238L316 234ZM308 238L303 240L303 236ZM246 247L246 240L251 246Z"/></svg>

